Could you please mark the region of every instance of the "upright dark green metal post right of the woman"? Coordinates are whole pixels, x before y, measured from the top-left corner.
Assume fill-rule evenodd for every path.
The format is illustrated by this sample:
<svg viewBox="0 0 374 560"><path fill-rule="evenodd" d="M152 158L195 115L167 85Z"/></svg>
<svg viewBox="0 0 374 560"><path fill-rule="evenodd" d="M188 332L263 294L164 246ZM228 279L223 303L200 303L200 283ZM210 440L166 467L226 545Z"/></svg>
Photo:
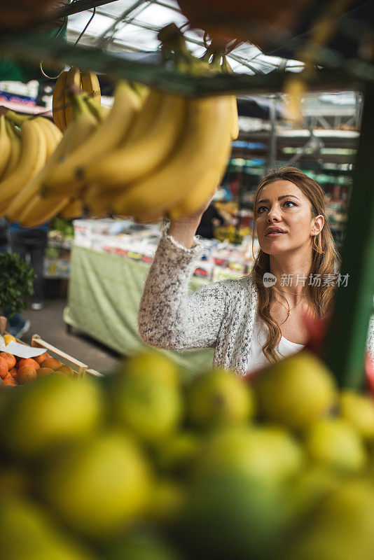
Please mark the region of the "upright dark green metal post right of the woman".
<svg viewBox="0 0 374 560"><path fill-rule="evenodd" d="M326 340L325 360L340 386L363 384L363 360L374 294L374 85L368 84L363 103L359 150L354 167L349 221L342 247L338 287Z"/></svg>

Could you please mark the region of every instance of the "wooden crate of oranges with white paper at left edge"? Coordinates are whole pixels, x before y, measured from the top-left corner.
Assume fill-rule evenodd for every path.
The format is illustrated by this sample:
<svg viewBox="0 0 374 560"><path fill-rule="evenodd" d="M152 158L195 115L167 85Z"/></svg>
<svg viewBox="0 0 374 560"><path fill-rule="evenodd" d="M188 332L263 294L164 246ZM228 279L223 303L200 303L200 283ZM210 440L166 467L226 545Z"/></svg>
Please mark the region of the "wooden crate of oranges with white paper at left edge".
<svg viewBox="0 0 374 560"><path fill-rule="evenodd" d="M85 374L100 376L99 372L95 370L88 370L88 366L76 358L69 356L62 350L52 346L45 340L41 339L39 335L32 337L32 348L40 348L46 350L39 356L31 358L22 358L17 356L17 352L11 353L6 351L7 346L11 342L18 342L23 346L28 346L25 342L15 339L5 331L6 319L0 318L0 332L4 337L5 347L0 352L0 378L1 385L4 386L17 386L23 385L34 381L38 377L44 377L50 374L64 375L67 377L83 377ZM15 345L11 344L9 350L14 348Z"/></svg>

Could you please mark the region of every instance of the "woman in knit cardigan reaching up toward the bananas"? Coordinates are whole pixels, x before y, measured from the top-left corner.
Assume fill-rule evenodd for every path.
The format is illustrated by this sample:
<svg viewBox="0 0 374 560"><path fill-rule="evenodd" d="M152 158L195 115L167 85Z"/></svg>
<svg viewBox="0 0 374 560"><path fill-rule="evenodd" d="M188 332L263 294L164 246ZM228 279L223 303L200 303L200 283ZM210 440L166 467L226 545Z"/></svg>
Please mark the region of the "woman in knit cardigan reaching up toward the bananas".
<svg viewBox="0 0 374 560"><path fill-rule="evenodd" d="M172 222L160 240L139 308L144 342L214 347L214 365L240 374L299 351L308 337L305 314L324 318L331 308L339 265L321 187L295 167L266 176L254 200L260 251L251 274L188 295L202 254L194 239L202 211ZM374 321L367 346L374 355Z"/></svg>

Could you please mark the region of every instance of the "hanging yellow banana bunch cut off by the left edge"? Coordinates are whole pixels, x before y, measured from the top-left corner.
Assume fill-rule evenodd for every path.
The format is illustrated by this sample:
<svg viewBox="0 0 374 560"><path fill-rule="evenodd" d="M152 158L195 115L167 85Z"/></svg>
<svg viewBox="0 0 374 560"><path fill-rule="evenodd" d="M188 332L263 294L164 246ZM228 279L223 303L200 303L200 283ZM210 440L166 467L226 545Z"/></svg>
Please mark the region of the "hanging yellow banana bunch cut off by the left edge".
<svg viewBox="0 0 374 560"><path fill-rule="evenodd" d="M46 200L40 190L48 169L64 160L104 120L85 93L74 96L73 121L65 134L48 118L6 111L0 117L0 215L25 226L39 225L67 207L66 195ZM75 212L77 211L77 207Z"/></svg>

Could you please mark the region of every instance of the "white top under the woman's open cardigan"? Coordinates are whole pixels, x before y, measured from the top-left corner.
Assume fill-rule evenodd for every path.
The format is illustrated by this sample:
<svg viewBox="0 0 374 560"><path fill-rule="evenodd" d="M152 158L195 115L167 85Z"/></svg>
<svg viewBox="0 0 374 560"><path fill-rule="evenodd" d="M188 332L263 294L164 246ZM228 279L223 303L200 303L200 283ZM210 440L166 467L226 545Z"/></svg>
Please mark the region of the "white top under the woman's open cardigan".
<svg viewBox="0 0 374 560"><path fill-rule="evenodd" d="M260 367L264 367L265 365L270 365L270 362L267 360L267 358L265 358L262 349L263 344L265 344L267 338L268 325L266 325L261 317L256 314L251 346L249 350L249 367L247 370L248 373L253 372L254 370L258 370ZM282 336L278 346L278 353L283 358L285 358L286 356L290 356L291 354L298 352L303 347L304 344L291 342L291 340L288 340Z"/></svg>

